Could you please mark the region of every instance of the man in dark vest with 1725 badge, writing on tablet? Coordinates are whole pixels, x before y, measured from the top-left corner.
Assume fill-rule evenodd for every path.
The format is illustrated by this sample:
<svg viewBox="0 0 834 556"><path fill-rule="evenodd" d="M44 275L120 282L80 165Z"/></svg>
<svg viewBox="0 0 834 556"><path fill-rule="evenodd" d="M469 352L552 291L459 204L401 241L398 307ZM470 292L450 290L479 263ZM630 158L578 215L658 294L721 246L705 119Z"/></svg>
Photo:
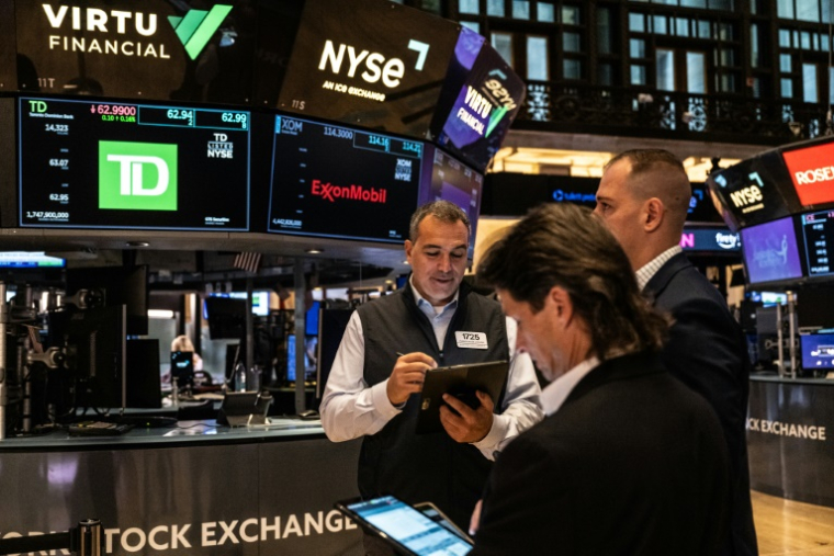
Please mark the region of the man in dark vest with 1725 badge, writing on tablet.
<svg viewBox="0 0 834 556"><path fill-rule="evenodd" d="M320 407L330 440L363 436L363 497L431 501L464 530L492 461L542 418L532 361L515 353L515 324L497 302L462 284L470 237L469 217L457 205L437 201L417 209L405 242L409 283L351 317ZM484 340L473 345L464 332ZM478 393L482 405L473 410L452 398L460 415L441 409L444 433L415 434L413 394L428 368L495 360L511 362L501 399ZM369 554L384 554L365 541Z"/></svg>

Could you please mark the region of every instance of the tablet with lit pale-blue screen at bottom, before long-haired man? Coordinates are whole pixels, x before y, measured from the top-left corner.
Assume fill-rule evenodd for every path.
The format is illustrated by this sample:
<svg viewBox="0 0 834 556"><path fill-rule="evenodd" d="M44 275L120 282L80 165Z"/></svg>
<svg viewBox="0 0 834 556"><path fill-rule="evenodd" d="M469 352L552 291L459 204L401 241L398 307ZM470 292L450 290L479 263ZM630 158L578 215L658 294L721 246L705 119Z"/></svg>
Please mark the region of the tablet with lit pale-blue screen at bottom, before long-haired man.
<svg viewBox="0 0 834 556"><path fill-rule="evenodd" d="M393 496L346 500L336 508L404 554L463 556L472 549L472 543Z"/></svg>

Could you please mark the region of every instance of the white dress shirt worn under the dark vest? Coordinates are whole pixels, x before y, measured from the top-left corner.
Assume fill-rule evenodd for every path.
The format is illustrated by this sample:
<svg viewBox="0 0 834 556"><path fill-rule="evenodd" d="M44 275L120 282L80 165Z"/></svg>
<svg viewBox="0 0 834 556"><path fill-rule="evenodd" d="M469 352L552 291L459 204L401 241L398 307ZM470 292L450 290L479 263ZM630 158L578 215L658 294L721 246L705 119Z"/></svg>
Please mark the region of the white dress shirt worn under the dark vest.
<svg viewBox="0 0 834 556"><path fill-rule="evenodd" d="M417 306L429 318L442 349L449 324L458 308L458 296L446 306L435 308L424 299L416 288L412 290ZM532 360L527 353L516 353L516 322L507 319L507 341L509 343L510 366L501 413L493 416L493 427L477 447L487 459L495 457L512 439L541 421L541 389L536 378ZM362 321L353 313L336 353L327 387L322 398L322 425L327 438L334 442L375 434L401 413L401 408L391 404L387 395L387 379L369 387L363 376L364 336Z"/></svg>

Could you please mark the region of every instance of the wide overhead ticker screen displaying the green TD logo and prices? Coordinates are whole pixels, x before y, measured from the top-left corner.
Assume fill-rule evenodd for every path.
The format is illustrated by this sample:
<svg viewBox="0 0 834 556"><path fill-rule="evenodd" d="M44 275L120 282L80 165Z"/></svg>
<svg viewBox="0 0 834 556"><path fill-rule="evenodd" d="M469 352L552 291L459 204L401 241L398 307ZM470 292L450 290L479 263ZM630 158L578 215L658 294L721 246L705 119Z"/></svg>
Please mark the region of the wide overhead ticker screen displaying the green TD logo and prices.
<svg viewBox="0 0 834 556"><path fill-rule="evenodd" d="M249 229L251 114L20 99L22 227Z"/></svg>

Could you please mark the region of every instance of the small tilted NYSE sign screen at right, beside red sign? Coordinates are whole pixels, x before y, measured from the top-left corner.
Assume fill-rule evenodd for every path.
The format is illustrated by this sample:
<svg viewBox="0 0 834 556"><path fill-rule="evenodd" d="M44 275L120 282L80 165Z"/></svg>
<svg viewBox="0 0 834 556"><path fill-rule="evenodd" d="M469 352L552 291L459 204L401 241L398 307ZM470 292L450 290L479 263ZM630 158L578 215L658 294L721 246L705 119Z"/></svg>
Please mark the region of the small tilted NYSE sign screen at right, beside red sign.
<svg viewBox="0 0 834 556"><path fill-rule="evenodd" d="M707 184L733 229L775 220L801 208L777 150L713 172Z"/></svg>

